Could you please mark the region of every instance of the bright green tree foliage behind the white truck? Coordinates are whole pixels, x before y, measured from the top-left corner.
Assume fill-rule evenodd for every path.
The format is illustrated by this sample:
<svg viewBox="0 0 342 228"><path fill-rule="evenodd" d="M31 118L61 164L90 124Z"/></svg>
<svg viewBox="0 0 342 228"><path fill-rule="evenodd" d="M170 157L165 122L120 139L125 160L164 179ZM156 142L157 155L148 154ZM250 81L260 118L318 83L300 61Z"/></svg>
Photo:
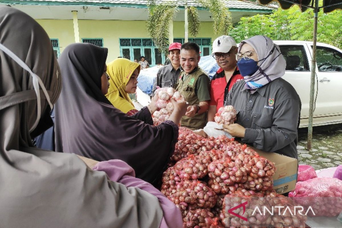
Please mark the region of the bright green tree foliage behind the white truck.
<svg viewBox="0 0 342 228"><path fill-rule="evenodd" d="M314 13L312 9L301 12L294 5L288 10L274 10L272 14L242 17L230 32L236 42L255 35L266 35L273 40L312 41ZM318 13L317 42L328 43L342 49L342 11Z"/></svg>

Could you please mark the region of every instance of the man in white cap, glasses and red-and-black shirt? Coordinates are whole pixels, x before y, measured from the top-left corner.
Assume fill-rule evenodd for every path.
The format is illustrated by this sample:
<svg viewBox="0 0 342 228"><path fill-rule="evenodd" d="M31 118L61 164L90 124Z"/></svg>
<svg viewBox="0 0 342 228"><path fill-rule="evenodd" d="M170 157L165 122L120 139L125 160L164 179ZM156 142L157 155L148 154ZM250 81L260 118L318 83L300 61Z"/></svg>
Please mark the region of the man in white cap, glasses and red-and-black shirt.
<svg viewBox="0 0 342 228"><path fill-rule="evenodd" d="M234 83L244 79L236 66L236 53L237 45L231 36L220 36L214 40L211 55L220 68L210 82L208 121L214 121L215 113L223 107Z"/></svg>

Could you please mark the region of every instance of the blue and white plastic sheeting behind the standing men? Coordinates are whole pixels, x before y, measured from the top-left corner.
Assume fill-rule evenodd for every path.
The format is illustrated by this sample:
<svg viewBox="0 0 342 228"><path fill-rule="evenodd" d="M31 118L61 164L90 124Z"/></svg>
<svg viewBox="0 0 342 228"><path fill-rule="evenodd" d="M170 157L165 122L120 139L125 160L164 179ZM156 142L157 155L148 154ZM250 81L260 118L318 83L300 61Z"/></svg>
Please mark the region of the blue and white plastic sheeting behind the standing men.
<svg viewBox="0 0 342 228"><path fill-rule="evenodd" d="M201 57L198 66L207 73L210 79L212 79L219 69L219 66L211 55ZM162 66L154 66L140 71L138 87L141 91L148 95L152 93L154 80L157 77L157 72L160 67Z"/></svg>

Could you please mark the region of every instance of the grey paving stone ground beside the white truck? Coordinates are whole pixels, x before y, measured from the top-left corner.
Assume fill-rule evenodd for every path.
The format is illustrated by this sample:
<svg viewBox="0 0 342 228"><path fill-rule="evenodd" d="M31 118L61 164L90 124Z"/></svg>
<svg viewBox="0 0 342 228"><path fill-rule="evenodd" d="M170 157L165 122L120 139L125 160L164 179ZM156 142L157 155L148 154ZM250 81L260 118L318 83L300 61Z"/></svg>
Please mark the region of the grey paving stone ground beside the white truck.
<svg viewBox="0 0 342 228"><path fill-rule="evenodd" d="M342 164L342 124L313 128L312 149L307 150L307 128L298 131L298 161L315 170Z"/></svg>

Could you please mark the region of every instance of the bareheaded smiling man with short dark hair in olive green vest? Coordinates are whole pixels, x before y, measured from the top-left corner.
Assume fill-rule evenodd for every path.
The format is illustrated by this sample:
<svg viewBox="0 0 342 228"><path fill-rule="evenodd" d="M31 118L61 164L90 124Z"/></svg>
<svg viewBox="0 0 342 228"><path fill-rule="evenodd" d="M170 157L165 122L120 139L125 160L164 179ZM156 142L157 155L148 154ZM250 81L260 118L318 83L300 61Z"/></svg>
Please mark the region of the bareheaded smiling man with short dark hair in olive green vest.
<svg viewBox="0 0 342 228"><path fill-rule="evenodd" d="M192 130L203 128L207 124L207 110L210 100L210 79L200 68L199 46L196 43L184 43L181 47L181 67L183 70L176 84L185 100L189 103L181 126Z"/></svg>

